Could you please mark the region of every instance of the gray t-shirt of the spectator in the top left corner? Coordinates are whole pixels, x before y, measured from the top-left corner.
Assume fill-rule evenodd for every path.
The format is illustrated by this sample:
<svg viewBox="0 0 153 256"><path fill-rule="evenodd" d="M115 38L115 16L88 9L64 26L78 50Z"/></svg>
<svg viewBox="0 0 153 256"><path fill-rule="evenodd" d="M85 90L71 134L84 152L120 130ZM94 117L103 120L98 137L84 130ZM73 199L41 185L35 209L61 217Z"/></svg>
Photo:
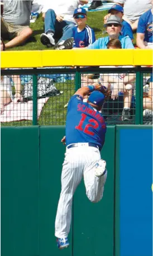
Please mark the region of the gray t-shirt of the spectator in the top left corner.
<svg viewBox="0 0 153 256"><path fill-rule="evenodd" d="M32 1L4 0L3 18L15 25L29 26Z"/></svg>

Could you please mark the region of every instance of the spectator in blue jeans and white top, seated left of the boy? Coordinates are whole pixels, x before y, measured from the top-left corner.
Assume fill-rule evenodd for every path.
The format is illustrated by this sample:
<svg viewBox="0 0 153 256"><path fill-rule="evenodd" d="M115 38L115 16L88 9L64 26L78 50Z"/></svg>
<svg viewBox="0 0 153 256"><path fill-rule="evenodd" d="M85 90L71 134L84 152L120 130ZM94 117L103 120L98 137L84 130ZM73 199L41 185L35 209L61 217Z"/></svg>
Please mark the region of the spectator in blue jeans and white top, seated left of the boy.
<svg viewBox="0 0 153 256"><path fill-rule="evenodd" d="M74 10L84 3L88 1L58 0L54 3L50 1L50 4L44 6L42 12L45 12L45 33L41 34L41 43L47 47L55 46L55 39L60 37L55 49L63 49L61 46L64 41L73 37L73 27L76 24L73 18Z"/></svg>

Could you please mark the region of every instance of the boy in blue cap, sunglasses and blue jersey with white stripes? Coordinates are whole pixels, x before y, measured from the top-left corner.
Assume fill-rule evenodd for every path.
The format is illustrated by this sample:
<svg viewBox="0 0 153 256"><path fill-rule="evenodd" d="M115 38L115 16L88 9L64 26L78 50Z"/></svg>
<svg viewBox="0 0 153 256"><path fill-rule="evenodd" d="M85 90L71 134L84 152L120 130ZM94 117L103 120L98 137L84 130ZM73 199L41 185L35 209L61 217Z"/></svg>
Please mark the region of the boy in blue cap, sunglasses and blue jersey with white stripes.
<svg viewBox="0 0 153 256"><path fill-rule="evenodd" d="M95 41L95 35L93 29L86 25L87 11L83 8L75 9L73 16L77 23L77 25L73 27L73 47L84 48L93 44Z"/></svg>

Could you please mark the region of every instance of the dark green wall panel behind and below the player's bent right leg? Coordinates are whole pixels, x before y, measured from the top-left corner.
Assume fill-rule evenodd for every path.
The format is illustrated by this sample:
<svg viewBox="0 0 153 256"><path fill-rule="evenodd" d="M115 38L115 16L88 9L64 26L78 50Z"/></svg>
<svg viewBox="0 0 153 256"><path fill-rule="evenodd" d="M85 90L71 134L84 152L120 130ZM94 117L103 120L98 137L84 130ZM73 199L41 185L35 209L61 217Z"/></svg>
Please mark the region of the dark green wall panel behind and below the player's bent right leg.
<svg viewBox="0 0 153 256"><path fill-rule="evenodd" d="M115 127L107 127L102 158L107 162L108 176L102 201L92 203L85 195L84 182L74 195L74 256L113 256L114 225L114 138Z"/></svg>

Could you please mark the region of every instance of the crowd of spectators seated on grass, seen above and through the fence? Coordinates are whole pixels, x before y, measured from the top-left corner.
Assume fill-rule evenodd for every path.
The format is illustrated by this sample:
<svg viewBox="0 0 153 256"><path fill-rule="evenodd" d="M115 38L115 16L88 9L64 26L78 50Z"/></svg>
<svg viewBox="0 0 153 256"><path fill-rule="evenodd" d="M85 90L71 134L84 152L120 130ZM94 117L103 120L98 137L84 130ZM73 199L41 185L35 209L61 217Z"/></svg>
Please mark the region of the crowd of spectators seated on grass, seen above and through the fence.
<svg viewBox="0 0 153 256"><path fill-rule="evenodd" d="M152 49L152 13L153 0L112 0L114 5L108 10L103 24L107 36L95 39L94 30L87 25L88 12L82 6L87 0L82 1L1 1L1 50L7 50L26 43L32 36L30 18L32 5L41 6L42 22L44 22L44 33L40 41L47 48L56 50L63 49ZM92 1L88 8L94 10L103 1ZM133 45L133 33L136 33L136 45ZM7 42L5 41L7 40ZM118 92L123 93L122 120L130 118L130 105L132 99L135 75L100 74L99 80L107 84L112 90L112 99L118 97ZM94 74L83 77L85 82L92 82ZM1 100L1 111L3 106L12 100L11 88L7 87L1 77L3 101ZM21 86L16 78L14 84L18 84L16 101L22 101ZM86 80L85 80L86 79ZM88 80L88 81L87 81ZM119 82L118 82L119 80ZM131 89L126 89L126 84L131 84ZM85 84L85 83L84 83ZM1 95L2 95L1 94ZM152 111L152 75L150 79L149 93L144 94L144 108ZM147 101L146 101L147 98ZM146 103L147 102L147 103Z"/></svg>

